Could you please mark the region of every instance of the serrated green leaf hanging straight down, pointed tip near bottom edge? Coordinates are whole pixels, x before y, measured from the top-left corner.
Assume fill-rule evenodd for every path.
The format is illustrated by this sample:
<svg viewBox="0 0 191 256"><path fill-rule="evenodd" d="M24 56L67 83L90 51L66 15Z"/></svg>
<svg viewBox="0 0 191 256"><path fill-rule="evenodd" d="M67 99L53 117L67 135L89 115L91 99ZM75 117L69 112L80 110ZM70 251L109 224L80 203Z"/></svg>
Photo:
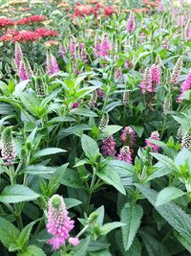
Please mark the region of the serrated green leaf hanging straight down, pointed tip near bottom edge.
<svg viewBox="0 0 191 256"><path fill-rule="evenodd" d="M125 250L128 250L134 242L142 214L143 210L140 205L130 203L126 203L121 210L120 221L127 224L121 227L122 241Z"/></svg>

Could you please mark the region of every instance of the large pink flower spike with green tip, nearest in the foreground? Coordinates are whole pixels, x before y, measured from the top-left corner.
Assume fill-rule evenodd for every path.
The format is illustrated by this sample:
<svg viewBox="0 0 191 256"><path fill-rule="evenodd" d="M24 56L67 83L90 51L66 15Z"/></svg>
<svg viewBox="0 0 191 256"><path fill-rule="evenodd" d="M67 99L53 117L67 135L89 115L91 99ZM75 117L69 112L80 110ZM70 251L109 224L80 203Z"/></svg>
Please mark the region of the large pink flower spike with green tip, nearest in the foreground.
<svg viewBox="0 0 191 256"><path fill-rule="evenodd" d="M70 231L74 228L74 221L68 216L68 211L64 199L59 195L54 195L48 204L47 229L53 238L47 243L57 250L70 238Z"/></svg>

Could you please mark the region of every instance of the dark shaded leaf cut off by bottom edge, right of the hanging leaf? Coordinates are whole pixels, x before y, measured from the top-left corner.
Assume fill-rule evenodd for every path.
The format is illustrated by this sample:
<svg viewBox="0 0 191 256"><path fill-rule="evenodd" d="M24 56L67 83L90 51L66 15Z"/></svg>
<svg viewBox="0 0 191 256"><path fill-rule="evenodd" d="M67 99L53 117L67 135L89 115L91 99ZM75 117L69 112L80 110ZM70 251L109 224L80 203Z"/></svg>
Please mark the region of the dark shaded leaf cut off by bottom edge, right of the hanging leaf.
<svg viewBox="0 0 191 256"><path fill-rule="evenodd" d="M165 246L154 237L150 236L146 232L139 231L143 243L149 256L170 256L171 253L165 248Z"/></svg>

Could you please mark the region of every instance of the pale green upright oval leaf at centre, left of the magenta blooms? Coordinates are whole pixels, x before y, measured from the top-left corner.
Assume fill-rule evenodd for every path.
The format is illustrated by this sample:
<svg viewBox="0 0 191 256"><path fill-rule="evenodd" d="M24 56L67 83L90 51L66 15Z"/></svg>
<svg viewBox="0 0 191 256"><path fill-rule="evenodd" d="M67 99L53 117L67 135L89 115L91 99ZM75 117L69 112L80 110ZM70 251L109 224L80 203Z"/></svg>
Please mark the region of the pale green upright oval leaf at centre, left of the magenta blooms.
<svg viewBox="0 0 191 256"><path fill-rule="evenodd" d="M81 146L85 155L91 160L95 159L96 155L99 153L96 141L85 134L81 137Z"/></svg>

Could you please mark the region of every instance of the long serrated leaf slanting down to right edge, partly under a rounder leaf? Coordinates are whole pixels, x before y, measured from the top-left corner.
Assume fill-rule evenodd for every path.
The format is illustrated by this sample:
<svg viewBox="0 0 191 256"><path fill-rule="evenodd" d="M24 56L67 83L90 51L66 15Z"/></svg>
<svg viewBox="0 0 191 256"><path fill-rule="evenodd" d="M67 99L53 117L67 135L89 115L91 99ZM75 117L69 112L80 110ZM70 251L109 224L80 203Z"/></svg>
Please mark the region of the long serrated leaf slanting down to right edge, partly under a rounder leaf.
<svg viewBox="0 0 191 256"><path fill-rule="evenodd" d="M167 221L187 243L191 241L191 218L178 205L173 202L167 202L159 207L156 206L158 193L143 185L136 184L138 190L147 198L156 208L159 214Z"/></svg>

